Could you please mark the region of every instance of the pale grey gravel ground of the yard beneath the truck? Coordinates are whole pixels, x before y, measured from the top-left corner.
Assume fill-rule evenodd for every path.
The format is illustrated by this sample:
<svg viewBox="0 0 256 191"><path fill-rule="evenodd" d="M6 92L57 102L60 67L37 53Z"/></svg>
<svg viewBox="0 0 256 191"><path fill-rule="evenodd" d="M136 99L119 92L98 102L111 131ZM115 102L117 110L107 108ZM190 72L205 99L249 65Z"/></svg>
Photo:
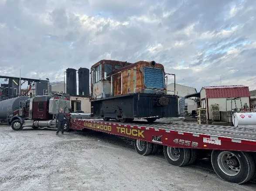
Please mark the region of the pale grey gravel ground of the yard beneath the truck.
<svg viewBox="0 0 256 191"><path fill-rule="evenodd" d="M212 173L209 162L176 167L137 154L127 138L0 126L0 191L255 191Z"/></svg>

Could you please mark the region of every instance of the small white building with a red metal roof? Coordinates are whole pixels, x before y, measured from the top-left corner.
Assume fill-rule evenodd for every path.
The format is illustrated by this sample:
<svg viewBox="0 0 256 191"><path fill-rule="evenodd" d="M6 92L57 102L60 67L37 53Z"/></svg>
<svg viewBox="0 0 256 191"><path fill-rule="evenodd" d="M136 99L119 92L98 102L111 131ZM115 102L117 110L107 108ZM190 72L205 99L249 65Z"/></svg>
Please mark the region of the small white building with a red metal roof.
<svg viewBox="0 0 256 191"><path fill-rule="evenodd" d="M234 98L236 98L236 103ZM243 109L245 104L249 106L249 98L248 86L209 86L202 87L200 91L201 107L207 109L208 120L212 120L211 105L218 104L219 111ZM232 106L231 99L233 99Z"/></svg>

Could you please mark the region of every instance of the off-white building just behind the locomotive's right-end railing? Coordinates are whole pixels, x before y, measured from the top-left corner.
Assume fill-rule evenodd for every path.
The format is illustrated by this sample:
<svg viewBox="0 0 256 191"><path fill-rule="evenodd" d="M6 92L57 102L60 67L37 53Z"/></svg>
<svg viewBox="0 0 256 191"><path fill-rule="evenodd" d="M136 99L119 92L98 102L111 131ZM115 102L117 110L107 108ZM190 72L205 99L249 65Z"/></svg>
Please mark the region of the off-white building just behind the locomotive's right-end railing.
<svg viewBox="0 0 256 191"><path fill-rule="evenodd" d="M174 91L174 83L168 84L167 90ZM175 84L175 94L179 96L178 103L180 99L183 98L184 96L194 94L194 93L197 93L195 88L184 86L181 84ZM168 92L168 94L173 94L173 92ZM196 110L196 109L197 109L197 102L195 102L195 98L192 97L192 98L185 99L185 111L188 111L188 113L191 113L192 110ZM179 114L181 113L179 104L178 104L178 112Z"/></svg>

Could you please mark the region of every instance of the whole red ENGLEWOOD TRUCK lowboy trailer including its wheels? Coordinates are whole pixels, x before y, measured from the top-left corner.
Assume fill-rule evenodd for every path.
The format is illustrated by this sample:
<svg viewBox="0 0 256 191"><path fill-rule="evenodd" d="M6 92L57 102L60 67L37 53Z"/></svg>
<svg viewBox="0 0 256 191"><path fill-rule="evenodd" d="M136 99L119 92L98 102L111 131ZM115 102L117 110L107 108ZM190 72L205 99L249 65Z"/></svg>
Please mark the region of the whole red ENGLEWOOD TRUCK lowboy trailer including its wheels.
<svg viewBox="0 0 256 191"><path fill-rule="evenodd" d="M84 128L133 138L140 155L164 146L167 161L176 166L192 164L199 153L210 153L216 174L225 181L243 184L256 178L256 128L154 122L149 124L70 119L70 128Z"/></svg>

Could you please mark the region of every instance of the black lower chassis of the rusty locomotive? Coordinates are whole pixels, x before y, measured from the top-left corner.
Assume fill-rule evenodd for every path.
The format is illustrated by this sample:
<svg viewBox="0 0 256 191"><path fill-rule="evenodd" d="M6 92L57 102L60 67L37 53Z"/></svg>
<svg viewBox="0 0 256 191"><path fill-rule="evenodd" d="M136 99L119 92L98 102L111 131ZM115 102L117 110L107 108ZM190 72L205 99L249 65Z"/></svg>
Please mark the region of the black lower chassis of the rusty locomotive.
<svg viewBox="0 0 256 191"><path fill-rule="evenodd" d="M177 117L177 95L133 93L91 100L92 116L112 119Z"/></svg>

